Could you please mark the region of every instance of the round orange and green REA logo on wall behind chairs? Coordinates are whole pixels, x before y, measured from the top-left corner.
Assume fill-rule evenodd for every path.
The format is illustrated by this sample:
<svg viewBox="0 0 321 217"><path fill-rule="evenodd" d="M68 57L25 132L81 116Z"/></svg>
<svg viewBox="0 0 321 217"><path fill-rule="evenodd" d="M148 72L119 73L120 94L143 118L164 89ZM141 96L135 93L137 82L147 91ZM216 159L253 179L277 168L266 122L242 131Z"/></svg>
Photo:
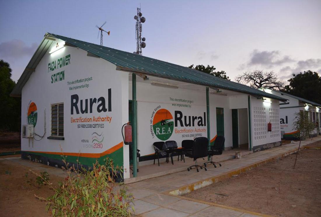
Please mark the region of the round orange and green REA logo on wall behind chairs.
<svg viewBox="0 0 321 217"><path fill-rule="evenodd" d="M153 131L158 139L168 140L174 129L172 114L167 109L158 110L153 118Z"/></svg>

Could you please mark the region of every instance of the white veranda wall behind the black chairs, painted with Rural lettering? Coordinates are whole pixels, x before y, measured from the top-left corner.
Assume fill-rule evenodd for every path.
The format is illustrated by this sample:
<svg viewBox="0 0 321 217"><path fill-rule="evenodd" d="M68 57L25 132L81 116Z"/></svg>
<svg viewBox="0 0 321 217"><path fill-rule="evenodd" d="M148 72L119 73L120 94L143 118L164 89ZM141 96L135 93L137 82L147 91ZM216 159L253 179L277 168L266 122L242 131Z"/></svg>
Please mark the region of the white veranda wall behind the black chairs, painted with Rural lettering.
<svg viewBox="0 0 321 217"><path fill-rule="evenodd" d="M131 99L132 84L129 83L129 98ZM184 116L197 116L206 119L206 92L204 91L192 91L186 89L171 89L165 87L151 86L150 84L144 84L137 82L136 84L136 96L137 96L137 125L138 125L138 149L141 150L141 156L154 153L152 144L156 141L161 141L153 130L151 132L151 121L153 122L154 114L160 109L167 109L174 118L175 111L180 111ZM188 102L178 102L177 99L188 100ZM210 94L210 129L211 139L216 136L216 107L224 108L224 132L225 132L225 147L232 146L232 121L231 121L231 109L229 105L229 97L212 95ZM178 104L188 105L188 107L179 107ZM160 107L158 107L160 106ZM184 122L184 118L182 119ZM187 119L188 120L188 119ZM199 120L199 119L198 119ZM204 136L207 137L207 121L206 126L183 126L179 124L173 128L173 133L170 138L166 140L175 140L178 146L181 146L182 140L194 139L195 137ZM204 120L203 120L204 122ZM179 122L178 122L179 123ZM193 130L193 132L180 132L180 130ZM195 132L201 130L201 132ZM177 130L175 132L175 130Z"/></svg>

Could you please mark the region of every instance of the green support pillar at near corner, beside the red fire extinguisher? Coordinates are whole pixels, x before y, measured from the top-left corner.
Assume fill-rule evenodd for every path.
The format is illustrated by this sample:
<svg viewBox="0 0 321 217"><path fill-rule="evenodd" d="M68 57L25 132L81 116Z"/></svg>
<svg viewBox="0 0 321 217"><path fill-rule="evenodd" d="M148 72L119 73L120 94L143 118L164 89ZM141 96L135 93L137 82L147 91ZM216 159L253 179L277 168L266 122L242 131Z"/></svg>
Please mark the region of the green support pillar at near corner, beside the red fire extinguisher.
<svg viewBox="0 0 321 217"><path fill-rule="evenodd" d="M137 101L136 101L136 74L132 74L132 94L133 94L133 175L137 176Z"/></svg>

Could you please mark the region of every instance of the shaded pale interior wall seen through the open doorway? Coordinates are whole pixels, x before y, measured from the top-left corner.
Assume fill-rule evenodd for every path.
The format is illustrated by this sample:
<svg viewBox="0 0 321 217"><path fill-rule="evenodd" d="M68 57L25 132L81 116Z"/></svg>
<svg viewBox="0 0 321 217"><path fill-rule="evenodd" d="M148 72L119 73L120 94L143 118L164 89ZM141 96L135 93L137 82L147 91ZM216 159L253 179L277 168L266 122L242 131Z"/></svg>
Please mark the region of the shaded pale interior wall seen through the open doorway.
<svg viewBox="0 0 321 217"><path fill-rule="evenodd" d="M238 109L239 118L239 145L248 143L248 112L247 109Z"/></svg>

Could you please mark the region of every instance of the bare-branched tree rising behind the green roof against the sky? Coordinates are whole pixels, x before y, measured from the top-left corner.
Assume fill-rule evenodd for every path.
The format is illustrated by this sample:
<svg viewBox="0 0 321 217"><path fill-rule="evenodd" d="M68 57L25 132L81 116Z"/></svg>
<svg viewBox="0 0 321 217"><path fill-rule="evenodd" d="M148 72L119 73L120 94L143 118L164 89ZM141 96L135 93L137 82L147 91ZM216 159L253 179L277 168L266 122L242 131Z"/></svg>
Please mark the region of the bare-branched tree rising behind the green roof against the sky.
<svg viewBox="0 0 321 217"><path fill-rule="evenodd" d="M284 82L273 71L254 70L252 72L244 72L238 75L235 81L256 89L267 87L280 90L284 86Z"/></svg>

